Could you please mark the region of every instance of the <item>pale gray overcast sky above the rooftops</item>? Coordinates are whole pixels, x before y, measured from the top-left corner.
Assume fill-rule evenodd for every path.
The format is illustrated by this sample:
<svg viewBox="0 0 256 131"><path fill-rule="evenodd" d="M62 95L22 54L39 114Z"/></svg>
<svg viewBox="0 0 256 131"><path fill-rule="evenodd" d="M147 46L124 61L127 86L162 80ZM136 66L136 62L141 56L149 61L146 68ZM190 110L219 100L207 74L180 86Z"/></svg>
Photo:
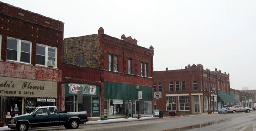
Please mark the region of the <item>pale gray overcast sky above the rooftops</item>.
<svg viewBox="0 0 256 131"><path fill-rule="evenodd" d="M1 0L64 22L64 38L122 34L154 47L154 71L202 64L256 89L256 0Z"/></svg>

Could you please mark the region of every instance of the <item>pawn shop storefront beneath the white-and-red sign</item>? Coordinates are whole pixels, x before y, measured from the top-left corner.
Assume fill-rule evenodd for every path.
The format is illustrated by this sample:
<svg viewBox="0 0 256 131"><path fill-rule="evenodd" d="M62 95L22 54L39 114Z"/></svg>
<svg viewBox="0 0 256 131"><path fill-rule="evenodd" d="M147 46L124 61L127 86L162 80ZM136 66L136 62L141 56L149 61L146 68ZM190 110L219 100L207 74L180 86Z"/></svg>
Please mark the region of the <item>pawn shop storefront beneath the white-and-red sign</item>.
<svg viewBox="0 0 256 131"><path fill-rule="evenodd" d="M77 91L82 88L82 103L77 103ZM65 110L87 111L90 118L100 118L100 86L65 83Z"/></svg>

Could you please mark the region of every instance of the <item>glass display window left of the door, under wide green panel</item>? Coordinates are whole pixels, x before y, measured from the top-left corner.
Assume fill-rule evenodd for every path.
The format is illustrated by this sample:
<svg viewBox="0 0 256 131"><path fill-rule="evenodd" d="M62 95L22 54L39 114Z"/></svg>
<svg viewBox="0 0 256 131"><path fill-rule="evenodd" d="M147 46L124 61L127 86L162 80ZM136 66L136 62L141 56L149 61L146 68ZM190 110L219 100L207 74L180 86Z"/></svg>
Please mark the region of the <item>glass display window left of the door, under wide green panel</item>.
<svg viewBox="0 0 256 131"><path fill-rule="evenodd" d="M125 100L111 99L109 101L109 115L124 115Z"/></svg>

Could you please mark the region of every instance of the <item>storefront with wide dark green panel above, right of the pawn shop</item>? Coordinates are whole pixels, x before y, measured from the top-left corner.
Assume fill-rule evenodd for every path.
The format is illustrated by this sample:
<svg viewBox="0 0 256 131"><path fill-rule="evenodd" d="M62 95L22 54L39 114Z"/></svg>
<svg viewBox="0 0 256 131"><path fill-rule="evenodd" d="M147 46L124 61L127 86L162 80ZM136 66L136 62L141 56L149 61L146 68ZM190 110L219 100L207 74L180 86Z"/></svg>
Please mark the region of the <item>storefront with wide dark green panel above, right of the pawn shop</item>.
<svg viewBox="0 0 256 131"><path fill-rule="evenodd" d="M152 115L152 87L139 86L142 99L138 101L138 92L135 84L104 82L104 116L105 118L123 118L128 109L129 117L138 115Z"/></svg>

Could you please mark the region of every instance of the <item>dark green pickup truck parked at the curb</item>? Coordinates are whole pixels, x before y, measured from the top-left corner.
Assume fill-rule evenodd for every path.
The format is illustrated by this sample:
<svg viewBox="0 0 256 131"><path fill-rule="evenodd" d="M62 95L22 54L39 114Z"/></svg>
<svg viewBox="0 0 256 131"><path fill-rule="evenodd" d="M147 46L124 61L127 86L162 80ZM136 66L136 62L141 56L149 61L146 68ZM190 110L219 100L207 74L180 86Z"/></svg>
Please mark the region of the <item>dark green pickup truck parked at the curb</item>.
<svg viewBox="0 0 256 131"><path fill-rule="evenodd" d="M88 120L84 112L58 111L56 106L36 107L31 113L12 117L8 127L17 131L27 131L29 127L64 125L66 129L76 129Z"/></svg>

